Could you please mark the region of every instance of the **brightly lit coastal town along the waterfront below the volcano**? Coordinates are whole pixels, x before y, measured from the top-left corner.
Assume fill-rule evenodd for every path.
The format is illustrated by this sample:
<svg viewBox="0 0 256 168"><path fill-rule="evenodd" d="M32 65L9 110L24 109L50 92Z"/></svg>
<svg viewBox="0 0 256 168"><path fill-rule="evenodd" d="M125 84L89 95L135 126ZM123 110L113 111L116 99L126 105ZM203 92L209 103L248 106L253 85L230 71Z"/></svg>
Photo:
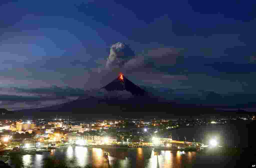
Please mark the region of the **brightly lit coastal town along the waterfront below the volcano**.
<svg viewBox="0 0 256 168"><path fill-rule="evenodd" d="M115 145L127 147L184 147L196 143L193 137L172 137L169 130L208 124L227 124L232 120L254 120L255 116L212 119L131 119L90 122L54 118L51 120L1 120L0 151L61 147L65 145ZM187 139L192 141L187 142ZM203 145L201 142L197 145Z"/></svg>

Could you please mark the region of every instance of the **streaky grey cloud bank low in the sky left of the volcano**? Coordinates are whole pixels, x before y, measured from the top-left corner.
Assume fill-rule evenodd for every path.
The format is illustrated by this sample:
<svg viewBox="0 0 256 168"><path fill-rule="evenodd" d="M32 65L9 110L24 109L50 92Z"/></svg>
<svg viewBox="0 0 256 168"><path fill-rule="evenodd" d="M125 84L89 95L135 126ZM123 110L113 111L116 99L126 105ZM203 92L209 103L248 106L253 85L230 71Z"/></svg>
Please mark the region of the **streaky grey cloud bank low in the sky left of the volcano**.
<svg viewBox="0 0 256 168"><path fill-rule="evenodd" d="M78 88L45 87L45 88L0 88L0 108L9 110L38 108L66 103L86 93Z"/></svg>

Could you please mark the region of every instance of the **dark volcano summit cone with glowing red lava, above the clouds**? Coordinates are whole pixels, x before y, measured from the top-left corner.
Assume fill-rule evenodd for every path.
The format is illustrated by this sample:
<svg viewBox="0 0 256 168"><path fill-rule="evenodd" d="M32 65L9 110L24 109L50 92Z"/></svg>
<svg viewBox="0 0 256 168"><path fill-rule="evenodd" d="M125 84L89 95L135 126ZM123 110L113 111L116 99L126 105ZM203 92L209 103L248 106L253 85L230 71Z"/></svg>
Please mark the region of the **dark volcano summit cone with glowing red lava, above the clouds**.
<svg viewBox="0 0 256 168"><path fill-rule="evenodd" d="M107 91L128 91L132 95L144 96L146 91L139 86L135 85L129 81L123 74L120 74L115 80L102 87L101 89L106 89Z"/></svg>

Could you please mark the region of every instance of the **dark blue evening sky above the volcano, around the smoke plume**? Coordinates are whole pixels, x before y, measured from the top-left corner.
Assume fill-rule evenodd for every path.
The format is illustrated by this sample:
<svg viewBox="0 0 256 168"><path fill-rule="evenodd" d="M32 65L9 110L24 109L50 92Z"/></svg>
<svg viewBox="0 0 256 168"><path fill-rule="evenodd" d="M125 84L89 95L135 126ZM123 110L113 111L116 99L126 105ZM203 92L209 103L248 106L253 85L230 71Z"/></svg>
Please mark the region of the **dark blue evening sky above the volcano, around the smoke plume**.
<svg viewBox="0 0 256 168"><path fill-rule="evenodd" d="M99 88L122 41L137 57L120 71L136 84L256 94L250 1L1 2L2 89Z"/></svg>

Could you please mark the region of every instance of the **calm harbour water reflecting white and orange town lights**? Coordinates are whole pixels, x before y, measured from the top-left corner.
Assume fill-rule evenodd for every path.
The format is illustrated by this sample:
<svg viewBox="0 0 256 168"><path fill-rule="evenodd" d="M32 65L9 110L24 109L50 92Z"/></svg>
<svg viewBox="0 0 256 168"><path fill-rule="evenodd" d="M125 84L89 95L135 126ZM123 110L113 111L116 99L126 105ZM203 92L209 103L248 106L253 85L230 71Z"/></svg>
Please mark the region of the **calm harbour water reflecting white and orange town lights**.
<svg viewBox="0 0 256 168"><path fill-rule="evenodd" d="M69 167L108 168L103 157L104 150L86 147L57 148L42 155L15 155L7 163L12 167L44 167L49 158L53 164L64 163ZM160 168L171 167L232 167L232 156L209 156L200 152L161 151L156 156L152 149L133 148L109 151L110 167L118 168ZM157 163L158 158L158 163ZM49 161L48 161L49 162Z"/></svg>

